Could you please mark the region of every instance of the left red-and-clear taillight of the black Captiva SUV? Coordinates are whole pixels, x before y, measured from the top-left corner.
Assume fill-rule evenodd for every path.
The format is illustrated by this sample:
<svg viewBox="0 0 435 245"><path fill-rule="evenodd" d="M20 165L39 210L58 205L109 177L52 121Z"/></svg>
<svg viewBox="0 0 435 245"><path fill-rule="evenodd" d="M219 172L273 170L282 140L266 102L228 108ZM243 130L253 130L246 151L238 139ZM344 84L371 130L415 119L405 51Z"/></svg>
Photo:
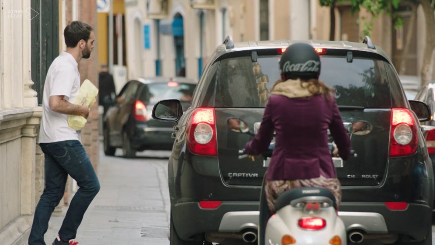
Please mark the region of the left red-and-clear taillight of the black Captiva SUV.
<svg viewBox="0 0 435 245"><path fill-rule="evenodd" d="M187 145L192 153L217 156L216 125L213 108L197 109L190 120Z"/></svg>

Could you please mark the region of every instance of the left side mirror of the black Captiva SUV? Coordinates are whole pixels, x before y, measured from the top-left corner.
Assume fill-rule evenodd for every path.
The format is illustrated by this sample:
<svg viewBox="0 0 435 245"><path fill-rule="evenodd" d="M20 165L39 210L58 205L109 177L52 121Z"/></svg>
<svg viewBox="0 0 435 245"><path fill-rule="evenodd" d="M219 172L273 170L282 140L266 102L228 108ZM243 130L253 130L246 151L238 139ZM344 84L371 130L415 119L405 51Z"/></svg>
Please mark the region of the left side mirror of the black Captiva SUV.
<svg viewBox="0 0 435 245"><path fill-rule="evenodd" d="M182 115L181 102L177 99L161 100L152 108L152 118L160 121L178 122Z"/></svg>

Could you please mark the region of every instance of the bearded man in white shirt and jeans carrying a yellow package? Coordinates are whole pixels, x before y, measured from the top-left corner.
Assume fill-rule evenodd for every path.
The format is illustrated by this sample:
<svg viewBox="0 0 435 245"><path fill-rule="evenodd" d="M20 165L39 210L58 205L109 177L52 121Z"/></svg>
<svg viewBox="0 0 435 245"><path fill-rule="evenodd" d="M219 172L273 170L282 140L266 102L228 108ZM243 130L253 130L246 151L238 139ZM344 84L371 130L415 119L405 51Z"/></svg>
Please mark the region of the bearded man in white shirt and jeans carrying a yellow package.
<svg viewBox="0 0 435 245"><path fill-rule="evenodd" d="M87 106L74 105L72 101L80 89L77 64L89 58L94 47L94 31L84 22L73 21L66 26L63 36L66 51L50 65L44 85L39 145L45 154L45 188L36 206L29 245L45 245L48 221L63 196L68 174L80 188L52 245L78 244L74 241L77 229L100 190L89 156L80 142L80 132L70 128L67 122L68 115L85 118L89 115Z"/></svg>

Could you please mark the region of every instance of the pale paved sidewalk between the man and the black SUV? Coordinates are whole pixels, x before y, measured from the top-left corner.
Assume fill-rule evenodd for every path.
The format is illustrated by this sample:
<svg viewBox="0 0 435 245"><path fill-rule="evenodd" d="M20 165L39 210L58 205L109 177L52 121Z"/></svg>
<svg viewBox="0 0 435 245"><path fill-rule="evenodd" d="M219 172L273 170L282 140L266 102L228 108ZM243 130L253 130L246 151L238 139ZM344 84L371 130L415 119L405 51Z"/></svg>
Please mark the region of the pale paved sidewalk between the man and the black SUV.
<svg viewBox="0 0 435 245"><path fill-rule="evenodd" d="M102 147L100 148L102 149ZM151 158L154 154L158 158ZM169 153L148 152L139 158L100 153L101 189L77 232L79 245L169 245ZM149 157L151 156L151 157ZM52 216L45 242L57 236L62 216Z"/></svg>

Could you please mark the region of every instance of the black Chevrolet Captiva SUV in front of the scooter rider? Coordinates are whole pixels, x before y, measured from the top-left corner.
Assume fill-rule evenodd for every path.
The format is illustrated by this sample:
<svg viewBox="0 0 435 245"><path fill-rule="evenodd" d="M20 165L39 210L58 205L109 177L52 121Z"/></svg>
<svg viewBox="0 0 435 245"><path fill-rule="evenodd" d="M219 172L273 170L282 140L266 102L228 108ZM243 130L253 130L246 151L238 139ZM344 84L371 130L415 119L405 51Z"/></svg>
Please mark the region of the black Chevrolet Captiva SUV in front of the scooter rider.
<svg viewBox="0 0 435 245"><path fill-rule="evenodd" d="M154 107L154 118L178 122L168 164L171 245L255 242L266 168L260 158L238 159L252 136L233 132L227 120L258 127L292 42L227 37L184 114L177 100ZM406 100L391 60L369 37L306 42L320 55L319 80L335 89L351 137L354 153L336 161L348 234L368 244L432 244L434 174L419 122L429 120L427 105Z"/></svg>

